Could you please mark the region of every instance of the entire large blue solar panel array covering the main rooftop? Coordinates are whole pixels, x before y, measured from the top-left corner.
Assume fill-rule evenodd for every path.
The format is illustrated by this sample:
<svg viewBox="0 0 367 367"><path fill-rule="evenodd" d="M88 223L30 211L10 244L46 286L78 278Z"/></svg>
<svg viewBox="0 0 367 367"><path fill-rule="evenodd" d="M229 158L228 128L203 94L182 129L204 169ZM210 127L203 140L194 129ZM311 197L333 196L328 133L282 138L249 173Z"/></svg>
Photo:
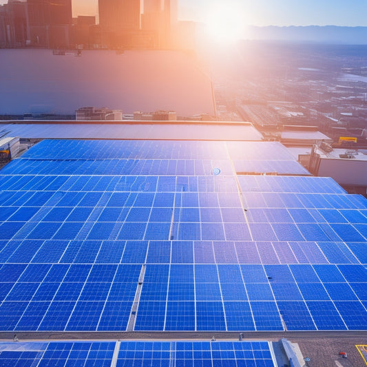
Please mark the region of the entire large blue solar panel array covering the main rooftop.
<svg viewBox="0 0 367 367"><path fill-rule="evenodd" d="M273 143L76 140L10 162L0 330L367 330L367 200L239 175L251 149L289 162Z"/></svg>

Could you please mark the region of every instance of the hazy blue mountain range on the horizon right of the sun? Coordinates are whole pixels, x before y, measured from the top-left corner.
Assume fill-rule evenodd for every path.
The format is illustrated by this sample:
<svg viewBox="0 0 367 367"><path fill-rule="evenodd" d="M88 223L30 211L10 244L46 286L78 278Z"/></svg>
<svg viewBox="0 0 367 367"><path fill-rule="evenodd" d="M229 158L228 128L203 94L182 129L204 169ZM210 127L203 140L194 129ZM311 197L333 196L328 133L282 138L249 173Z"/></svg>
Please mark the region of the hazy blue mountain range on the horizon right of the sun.
<svg viewBox="0 0 367 367"><path fill-rule="evenodd" d="M367 45L367 27L339 27L336 25L308 25L277 27L269 25L247 28L247 39L268 41L297 41Z"/></svg>

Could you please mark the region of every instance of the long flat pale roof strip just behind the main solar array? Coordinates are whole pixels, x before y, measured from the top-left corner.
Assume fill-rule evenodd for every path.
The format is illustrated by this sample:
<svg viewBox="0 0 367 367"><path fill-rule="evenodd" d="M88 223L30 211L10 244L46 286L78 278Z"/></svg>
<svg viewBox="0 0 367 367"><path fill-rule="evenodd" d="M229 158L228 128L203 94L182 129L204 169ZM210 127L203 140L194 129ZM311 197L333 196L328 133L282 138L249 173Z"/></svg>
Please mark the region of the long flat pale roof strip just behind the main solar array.
<svg viewBox="0 0 367 367"><path fill-rule="evenodd" d="M251 123L188 121L8 121L8 136L32 139L262 140Z"/></svg>

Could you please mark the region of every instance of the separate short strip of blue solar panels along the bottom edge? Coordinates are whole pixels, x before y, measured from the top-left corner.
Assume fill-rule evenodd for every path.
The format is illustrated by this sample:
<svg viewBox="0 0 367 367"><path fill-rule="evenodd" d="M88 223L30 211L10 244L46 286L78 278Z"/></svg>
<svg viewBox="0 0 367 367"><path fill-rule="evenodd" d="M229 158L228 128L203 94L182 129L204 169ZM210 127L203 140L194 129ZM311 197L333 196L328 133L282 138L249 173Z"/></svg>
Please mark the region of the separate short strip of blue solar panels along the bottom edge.
<svg viewBox="0 0 367 367"><path fill-rule="evenodd" d="M0 364L9 367L275 366L268 342L143 341L0 343Z"/></svg>

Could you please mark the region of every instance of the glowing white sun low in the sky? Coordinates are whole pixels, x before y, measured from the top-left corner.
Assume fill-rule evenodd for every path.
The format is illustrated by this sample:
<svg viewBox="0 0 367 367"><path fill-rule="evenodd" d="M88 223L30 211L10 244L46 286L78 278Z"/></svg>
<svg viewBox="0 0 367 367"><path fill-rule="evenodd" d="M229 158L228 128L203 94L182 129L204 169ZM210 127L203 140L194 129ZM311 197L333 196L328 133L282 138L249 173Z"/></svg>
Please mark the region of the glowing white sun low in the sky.
<svg viewBox="0 0 367 367"><path fill-rule="evenodd" d="M243 38L244 17L240 6L218 3L206 18L207 34L215 41L230 43Z"/></svg>

